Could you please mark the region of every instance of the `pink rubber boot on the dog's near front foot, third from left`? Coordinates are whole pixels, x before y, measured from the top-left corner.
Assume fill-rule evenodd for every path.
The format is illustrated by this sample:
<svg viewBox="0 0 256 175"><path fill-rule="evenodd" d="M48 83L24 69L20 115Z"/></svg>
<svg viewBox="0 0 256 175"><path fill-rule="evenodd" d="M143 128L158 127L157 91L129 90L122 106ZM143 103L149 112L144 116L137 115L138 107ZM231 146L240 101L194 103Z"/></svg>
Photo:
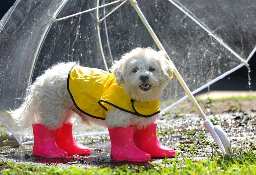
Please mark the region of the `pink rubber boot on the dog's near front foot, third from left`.
<svg viewBox="0 0 256 175"><path fill-rule="evenodd" d="M108 128L111 141L111 159L114 161L148 162L151 156L133 143L133 127Z"/></svg>

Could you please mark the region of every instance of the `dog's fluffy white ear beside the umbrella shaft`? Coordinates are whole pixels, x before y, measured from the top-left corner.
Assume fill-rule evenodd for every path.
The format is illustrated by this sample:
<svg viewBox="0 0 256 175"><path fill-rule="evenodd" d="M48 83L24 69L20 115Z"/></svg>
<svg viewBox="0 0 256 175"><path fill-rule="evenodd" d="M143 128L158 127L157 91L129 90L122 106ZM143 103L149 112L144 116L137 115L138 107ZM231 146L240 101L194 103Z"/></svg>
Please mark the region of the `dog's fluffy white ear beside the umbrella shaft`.
<svg viewBox="0 0 256 175"><path fill-rule="evenodd" d="M166 77L166 80L169 81L173 76L173 69L174 65L173 63L168 60L165 56L162 56L160 58L160 64L162 68L162 75L163 77Z"/></svg>

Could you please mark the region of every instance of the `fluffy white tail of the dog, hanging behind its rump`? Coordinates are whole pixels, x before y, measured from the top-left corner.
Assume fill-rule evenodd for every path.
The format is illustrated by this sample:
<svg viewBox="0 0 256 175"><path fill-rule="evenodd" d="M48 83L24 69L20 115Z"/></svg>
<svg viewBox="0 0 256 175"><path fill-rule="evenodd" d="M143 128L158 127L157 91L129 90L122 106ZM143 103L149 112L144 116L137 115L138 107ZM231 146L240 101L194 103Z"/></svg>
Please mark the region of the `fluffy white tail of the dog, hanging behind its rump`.
<svg viewBox="0 0 256 175"><path fill-rule="evenodd" d="M28 96L23 99L24 101L20 105L20 108L7 111L19 126L28 128L32 126L33 123L39 121L40 114L38 112L38 104L40 101L36 99L35 93L35 85L32 84L29 86Z"/></svg>

